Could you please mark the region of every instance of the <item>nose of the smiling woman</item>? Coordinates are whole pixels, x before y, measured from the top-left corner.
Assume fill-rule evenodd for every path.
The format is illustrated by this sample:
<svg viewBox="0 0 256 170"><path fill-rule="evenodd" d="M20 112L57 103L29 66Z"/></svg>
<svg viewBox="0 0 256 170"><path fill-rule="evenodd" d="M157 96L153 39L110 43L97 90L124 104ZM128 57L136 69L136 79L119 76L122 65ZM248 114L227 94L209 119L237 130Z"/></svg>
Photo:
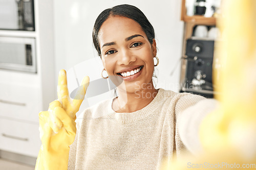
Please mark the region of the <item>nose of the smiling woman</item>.
<svg viewBox="0 0 256 170"><path fill-rule="evenodd" d="M136 61L135 55L129 51L129 50L122 50L119 51L118 59L117 59L118 65L129 65L132 62Z"/></svg>

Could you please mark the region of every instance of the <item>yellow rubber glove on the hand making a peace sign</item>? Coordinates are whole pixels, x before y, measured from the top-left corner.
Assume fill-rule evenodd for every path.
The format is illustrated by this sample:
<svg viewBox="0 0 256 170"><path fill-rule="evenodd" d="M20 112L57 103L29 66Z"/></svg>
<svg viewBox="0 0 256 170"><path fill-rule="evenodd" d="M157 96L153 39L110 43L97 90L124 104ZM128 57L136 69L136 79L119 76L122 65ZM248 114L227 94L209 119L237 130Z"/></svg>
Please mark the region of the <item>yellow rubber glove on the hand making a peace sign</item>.
<svg viewBox="0 0 256 170"><path fill-rule="evenodd" d="M67 169L69 146L76 135L76 112L84 99L89 77L84 77L74 100L69 98L67 75L59 71L58 100L49 105L48 111L39 113L39 129L42 145L35 169Z"/></svg>

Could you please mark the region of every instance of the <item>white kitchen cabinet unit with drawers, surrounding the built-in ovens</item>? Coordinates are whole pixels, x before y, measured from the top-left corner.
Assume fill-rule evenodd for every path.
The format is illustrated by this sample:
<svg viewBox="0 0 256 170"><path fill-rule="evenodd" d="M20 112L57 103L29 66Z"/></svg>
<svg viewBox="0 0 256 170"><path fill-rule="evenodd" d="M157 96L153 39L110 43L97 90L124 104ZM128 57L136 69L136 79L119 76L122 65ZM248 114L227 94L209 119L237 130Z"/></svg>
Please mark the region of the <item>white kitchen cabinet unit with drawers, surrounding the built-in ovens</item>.
<svg viewBox="0 0 256 170"><path fill-rule="evenodd" d="M56 94L52 9L52 0L34 0L35 31L0 30L0 36L35 38L37 70L0 69L0 150L37 157L38 113Z"/></svg>

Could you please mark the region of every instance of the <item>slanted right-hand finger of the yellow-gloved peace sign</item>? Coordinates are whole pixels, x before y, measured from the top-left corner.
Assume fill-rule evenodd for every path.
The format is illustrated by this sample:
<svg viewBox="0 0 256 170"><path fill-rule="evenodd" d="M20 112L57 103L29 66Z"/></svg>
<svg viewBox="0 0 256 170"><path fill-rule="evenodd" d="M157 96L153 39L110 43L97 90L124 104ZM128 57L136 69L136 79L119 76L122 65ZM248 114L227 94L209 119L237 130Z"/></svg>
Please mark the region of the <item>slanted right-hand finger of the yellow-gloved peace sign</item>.
<svg viewBox="0 0 256 170"><path fill-rule="evenodd" d="M77 88L76 95L73 100L73 107L76 111L79 110L79 107L84 99L84 95L86 95L86 91L87 91L89 84L90 84L90 78L88 76L86 76L82 79L82 82L81 82L79 88Z"/></svg>

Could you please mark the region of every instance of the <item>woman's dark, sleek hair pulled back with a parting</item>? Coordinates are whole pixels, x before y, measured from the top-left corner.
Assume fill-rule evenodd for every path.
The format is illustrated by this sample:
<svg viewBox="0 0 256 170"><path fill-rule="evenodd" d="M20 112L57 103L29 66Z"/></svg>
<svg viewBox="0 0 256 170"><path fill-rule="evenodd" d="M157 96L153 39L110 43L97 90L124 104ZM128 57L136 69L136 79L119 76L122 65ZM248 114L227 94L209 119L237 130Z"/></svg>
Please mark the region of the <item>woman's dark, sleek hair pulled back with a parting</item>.
<svg viewBox="0 0 256 170"><path fill-rule="evenodd" d="M143 12L137 7L132 5L127 5L127 4L118 5L113 8L109 8L102 11L94 23L93 43L100 57L101 57L101 52L100 52L99 39L98 39L100 27L102 26L103 22L106 19L108 19L110 16L115 16L115 15L124 16L138 22L142 30L146 34L148 41L150 41L150 43L153 44L153 39L155 38L155 31L150 21L148 21L148 19L143 14Z"/></svg>

